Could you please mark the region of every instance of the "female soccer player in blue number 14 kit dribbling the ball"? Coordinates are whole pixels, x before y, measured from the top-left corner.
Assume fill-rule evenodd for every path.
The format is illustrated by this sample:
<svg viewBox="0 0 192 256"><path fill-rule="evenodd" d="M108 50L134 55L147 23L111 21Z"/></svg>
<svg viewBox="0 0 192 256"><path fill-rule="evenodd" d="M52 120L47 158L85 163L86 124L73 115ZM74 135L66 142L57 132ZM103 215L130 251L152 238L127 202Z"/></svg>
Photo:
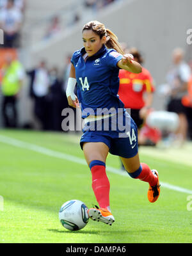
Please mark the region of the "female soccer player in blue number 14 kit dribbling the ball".
<svg viewBox="0 0 192 256"><path fill-rule="evenodd" d="M159 177L156 170L140 163L136 124L117 96L119 69L140 73L140 64L131 55L124 54L116 35L97 20L85 24L82 35L84 47L72 56L66 94L70 106L76 108L81 104L84 118L80 145L92 173L92 188L99 204L90 208L88 214L92 220L112 225L115 218L109 206L108 153L121 157L132 178L149 183L150 202L159 197ZM74 94L76 83L77 96Z"/></svg>

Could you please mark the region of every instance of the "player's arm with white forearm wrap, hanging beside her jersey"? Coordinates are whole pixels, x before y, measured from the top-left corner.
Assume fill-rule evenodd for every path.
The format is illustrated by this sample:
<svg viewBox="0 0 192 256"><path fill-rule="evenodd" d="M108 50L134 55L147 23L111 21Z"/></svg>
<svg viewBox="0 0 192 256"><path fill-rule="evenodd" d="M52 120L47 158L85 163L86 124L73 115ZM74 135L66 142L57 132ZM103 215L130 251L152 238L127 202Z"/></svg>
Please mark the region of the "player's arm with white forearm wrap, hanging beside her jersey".
<svg viewBox="0 0 192 256"><path fill-rule="evenodd" d="M74 93L75 87L76 87L76 70L74 65L71 65L70 74L68 77L66 95L67 95L68 105L73 108L76 108L76 106L79 103L79 100L77 99L77 96Z"/></svg>

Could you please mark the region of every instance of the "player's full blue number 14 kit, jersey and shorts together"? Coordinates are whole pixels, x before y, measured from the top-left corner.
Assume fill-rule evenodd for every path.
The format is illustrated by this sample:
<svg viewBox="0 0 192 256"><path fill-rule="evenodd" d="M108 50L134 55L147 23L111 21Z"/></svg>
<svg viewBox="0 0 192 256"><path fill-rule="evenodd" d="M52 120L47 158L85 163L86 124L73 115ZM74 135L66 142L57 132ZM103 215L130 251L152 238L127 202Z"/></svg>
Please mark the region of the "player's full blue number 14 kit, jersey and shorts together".
<svg viewBox="0 0 192 256"><path fill-rule="evenodd" d="M77 97L85 118L81 148L84 142L102 142L109 147L111 154L133 157L138 153L137 127L117 95L117 63L122 55L105 46L86 61L83 59L85 53L84 48L76 51L71 60L76 68ZM98 109L101 109L103 118L100 118ZM104 109L111 115L105 115ZM113 115L110 109L115 109L118 115ZM92 115L97 115L97 121Z"/></svg>

